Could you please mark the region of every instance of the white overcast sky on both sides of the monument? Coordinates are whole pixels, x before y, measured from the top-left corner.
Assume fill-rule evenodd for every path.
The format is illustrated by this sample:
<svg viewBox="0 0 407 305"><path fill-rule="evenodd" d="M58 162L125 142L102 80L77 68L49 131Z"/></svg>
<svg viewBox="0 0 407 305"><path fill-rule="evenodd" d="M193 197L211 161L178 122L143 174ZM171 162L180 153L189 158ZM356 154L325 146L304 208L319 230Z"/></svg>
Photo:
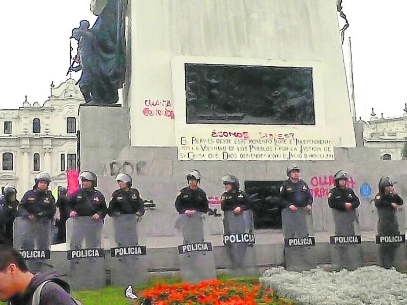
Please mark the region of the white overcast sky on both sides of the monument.
<svg viewBox="0 0 407 305"><path fill-rule="evenodd" d="M170 0L168 0L170 1ZM305 1L305 0L298 0ZM69 37L82 19L91 24L96 16L91 0L4 1L0 13L2 34L0 107L17 108L28 102L41 105L49 96L51 81L66 80L69 67ZM366 119L371 108L380 116L403 113L403 88L407 86L407 1L343 0L352 38L356 114ZM342 24L342 21L340 21ZM76 50L76 47L74 47ZM73 73L78 78L80 73Z"/></svg>

